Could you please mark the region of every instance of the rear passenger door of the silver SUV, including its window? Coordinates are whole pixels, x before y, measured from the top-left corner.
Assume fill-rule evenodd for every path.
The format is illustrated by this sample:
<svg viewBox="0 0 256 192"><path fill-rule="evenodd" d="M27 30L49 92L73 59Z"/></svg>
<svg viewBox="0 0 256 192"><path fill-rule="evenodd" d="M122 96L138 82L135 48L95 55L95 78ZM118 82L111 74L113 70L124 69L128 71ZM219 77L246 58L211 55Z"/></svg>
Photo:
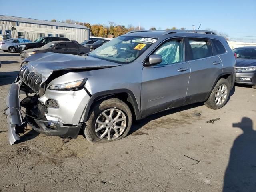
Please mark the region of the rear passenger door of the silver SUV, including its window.
<svg viewBox="0 0 256 192"><path fill-rule="evenodd" d="M206 99L222 74L222 62L218 55L213 54L210 39L186 38L188 44L191 74L188 84L186 104L200 102Z"/></svg>

